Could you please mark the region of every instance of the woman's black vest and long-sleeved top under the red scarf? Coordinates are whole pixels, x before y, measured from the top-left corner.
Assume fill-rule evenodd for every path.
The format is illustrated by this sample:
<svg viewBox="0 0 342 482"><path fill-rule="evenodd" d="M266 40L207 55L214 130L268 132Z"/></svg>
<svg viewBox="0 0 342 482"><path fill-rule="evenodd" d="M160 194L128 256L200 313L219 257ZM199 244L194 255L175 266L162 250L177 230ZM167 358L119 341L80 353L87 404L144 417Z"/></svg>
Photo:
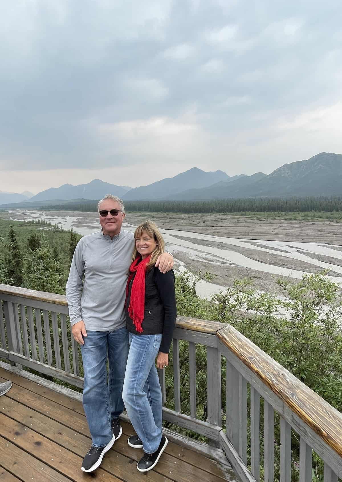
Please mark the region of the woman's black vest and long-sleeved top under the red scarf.
<svg viewBox="0 0 342 482"><path fill-rule="evenodd" d="M126 299L126 327L135 335L157 335L162 333L159 351L169 353L177 316L176 295L174 291L174 272L163 274L153 267L145 274L145 312L142 322L143 333L138 333L128 314L132 282L128 286Z"/></svg>

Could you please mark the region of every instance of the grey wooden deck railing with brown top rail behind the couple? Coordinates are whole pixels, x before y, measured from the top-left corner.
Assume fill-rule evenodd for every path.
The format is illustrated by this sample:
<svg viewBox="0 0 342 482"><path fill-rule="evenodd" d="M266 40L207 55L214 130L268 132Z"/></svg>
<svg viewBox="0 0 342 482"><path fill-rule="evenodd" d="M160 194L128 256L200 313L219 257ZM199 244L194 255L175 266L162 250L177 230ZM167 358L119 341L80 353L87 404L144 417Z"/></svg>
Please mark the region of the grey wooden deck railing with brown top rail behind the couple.
<svg viewBox="0 0 342 482"><path fill-rule="evenodd" d="M79 347L70 336L67 314L65 296L0 284L0 358L82 388ZM188 343L188 414L181 410L180 343ZM207 349L205 421L197 418L198 345ZM222 379L222 360L226 363L225 380ZM160 371L159 380L165 402L164 371ZM226 387L224 407L222 383ZM298 434L300 441L300 482L312 481L313 450L324 461L325 482L342 477L342 415L232 326L177 318L173 339L173 389L174 409L164 407L164 419L205 436L219 446L243 481L260 480L261 402L265 482L274 481L276 413L280 417L281 482L291 480L292 431ZM224 427L223 413L226 416Z"/></svg>

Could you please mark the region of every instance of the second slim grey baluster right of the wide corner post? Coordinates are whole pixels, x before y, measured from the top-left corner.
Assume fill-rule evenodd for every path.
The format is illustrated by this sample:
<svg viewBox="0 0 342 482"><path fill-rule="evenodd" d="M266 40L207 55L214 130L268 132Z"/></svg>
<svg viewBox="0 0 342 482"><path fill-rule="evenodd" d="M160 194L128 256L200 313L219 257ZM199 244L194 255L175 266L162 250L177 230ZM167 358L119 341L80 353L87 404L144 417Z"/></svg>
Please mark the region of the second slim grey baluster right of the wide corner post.
<svg viewBox="0 0 342 482"><path fill-rule="evenodd" d="M260 482L260 395L250 386L250 471Z"/></svg>

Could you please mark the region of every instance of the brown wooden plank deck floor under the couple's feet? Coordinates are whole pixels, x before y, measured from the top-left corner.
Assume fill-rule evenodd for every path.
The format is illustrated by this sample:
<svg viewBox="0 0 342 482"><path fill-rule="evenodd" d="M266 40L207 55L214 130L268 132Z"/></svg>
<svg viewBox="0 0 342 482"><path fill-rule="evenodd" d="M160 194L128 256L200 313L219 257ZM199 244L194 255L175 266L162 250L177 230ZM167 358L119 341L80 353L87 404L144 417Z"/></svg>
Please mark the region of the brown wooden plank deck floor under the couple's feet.
<svg viewBox="0 0 342 482"><path fill-rule="evenodd" d="M91 438L82 404L27 378L0 368L0 381L13 387L0 397L0 480L2 482L109 481L223 482L236 481L228 463L210 460L169 442L155 470L136 469L142 449L127 439L134 433L123 422L123 434L105 455L99 469L85 474L80 466Z"/></svg>

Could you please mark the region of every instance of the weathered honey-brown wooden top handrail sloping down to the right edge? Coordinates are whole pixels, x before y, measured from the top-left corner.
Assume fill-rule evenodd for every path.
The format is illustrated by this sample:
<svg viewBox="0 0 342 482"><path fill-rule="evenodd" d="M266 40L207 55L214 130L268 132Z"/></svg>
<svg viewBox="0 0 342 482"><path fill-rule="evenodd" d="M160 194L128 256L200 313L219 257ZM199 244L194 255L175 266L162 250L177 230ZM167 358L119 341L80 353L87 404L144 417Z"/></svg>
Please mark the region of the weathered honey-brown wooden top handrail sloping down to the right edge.
<svg viewBox="0 0 342 482"><path fill-rule="evenodd" d="M242 363L263 381L330 448L342 456L342 414L315 391L258 348L233 326L217 337Z"/></svg>

